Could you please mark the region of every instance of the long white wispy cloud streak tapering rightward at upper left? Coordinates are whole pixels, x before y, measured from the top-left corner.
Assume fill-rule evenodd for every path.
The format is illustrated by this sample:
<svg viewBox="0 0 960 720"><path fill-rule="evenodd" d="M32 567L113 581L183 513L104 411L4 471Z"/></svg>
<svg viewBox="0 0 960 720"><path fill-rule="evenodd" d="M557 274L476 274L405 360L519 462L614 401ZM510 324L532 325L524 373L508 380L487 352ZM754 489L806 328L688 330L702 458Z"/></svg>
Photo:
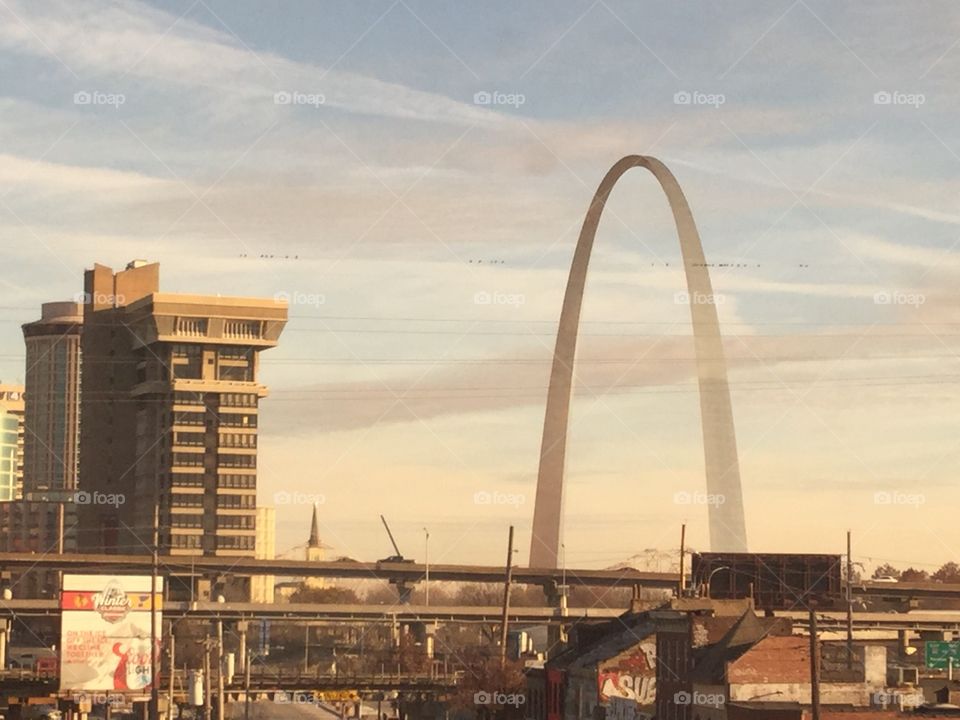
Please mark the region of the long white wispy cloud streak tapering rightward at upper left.
<svg viewBox="0 0 960 720"><path fill-rule="evenodd" d="M119 91L130 79L149 81L130 92L131 103L158 103L158 96L189 102L183 94L189 91L194 102L232 99L261 116L279 117L296 108L277 106L275 93L296 91L322 95L324 106L351 113L488 127L507 122L436 93L254 50L228 32L131 0L82 6L61 0L42 7L11 0L0 18L0 45L58 63L78 84L100 78L113 83L101 90Z"/></svg>

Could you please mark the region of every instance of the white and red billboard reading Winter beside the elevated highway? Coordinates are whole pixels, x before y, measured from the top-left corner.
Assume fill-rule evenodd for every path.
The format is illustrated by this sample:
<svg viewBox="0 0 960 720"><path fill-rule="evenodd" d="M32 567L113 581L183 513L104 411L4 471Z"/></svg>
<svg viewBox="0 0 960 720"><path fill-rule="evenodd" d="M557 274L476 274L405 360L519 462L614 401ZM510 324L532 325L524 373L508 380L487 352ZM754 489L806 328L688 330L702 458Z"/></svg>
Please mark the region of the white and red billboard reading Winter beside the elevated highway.
<svg viewBox="0 0 960 720"><path fill-rule="evenodd" d="M64 575L60 591L60 689L148 691L150 576ZM157 578L156 638L161 638L163 578Z"/></svg>

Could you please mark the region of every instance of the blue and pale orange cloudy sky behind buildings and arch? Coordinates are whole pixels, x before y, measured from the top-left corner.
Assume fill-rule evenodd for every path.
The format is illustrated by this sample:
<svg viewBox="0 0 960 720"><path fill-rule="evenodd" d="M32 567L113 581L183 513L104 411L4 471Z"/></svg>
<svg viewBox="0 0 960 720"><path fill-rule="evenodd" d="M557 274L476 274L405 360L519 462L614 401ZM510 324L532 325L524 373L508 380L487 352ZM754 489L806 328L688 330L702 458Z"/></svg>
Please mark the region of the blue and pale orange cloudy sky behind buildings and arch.
<svg viewBox="0 0 960 720"><path fill-rule="evenodd" d="M751 550L960 561L960 7L0 0L0 377L95 262L290 302L258 496L296 556L529 553L580 223L697 220ZM591 260L570 567L707 548L689 307L642 171ZM685 502L692 499L692 502ZM489 501L489 502L488 502ZM429 532L429 540L427 540Z"/></svg>

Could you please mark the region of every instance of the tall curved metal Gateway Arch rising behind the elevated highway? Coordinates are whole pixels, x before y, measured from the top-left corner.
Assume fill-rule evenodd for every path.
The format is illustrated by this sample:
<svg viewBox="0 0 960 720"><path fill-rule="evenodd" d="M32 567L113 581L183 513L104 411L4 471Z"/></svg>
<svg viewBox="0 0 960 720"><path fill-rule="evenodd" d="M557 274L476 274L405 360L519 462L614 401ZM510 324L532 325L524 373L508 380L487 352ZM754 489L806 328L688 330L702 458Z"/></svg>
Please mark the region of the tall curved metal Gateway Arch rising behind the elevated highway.
<svg viewBox="0 0 960 720"><path fill-rule="evenodd" d="M646 168L660 183L673 211L680 240L700 386L700 420L703 428L707 493L724 498L722 504L709 505L710 548L722 552L746 552L747 549L743 495L740 490L740 464L733 429L727 364L700 235L693 222L687 199L667 167L652 157L628 155L610 168L593 196L580 230L570 276L567 279L557 344L553 353L553 368L550 372L550 387L547 391L547 410L540 446L540 472L533 511L530 567L557 567L573 362L587 265L607 197L620 177L635 167Z"/></svg>

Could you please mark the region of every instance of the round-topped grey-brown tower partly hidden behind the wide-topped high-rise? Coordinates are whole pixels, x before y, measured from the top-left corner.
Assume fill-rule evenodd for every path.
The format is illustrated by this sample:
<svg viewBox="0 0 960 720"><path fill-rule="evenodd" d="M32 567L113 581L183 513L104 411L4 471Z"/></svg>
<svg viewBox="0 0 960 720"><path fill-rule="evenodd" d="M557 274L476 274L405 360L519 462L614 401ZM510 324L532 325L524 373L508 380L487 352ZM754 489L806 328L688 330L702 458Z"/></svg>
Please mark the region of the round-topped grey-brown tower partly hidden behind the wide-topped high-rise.
<svg viewBox="0 0 960 720"><path fill-rule="evenodd" d="M83 305L44 303L23 326L26 344L24 492L77 487Z"/></svg>

